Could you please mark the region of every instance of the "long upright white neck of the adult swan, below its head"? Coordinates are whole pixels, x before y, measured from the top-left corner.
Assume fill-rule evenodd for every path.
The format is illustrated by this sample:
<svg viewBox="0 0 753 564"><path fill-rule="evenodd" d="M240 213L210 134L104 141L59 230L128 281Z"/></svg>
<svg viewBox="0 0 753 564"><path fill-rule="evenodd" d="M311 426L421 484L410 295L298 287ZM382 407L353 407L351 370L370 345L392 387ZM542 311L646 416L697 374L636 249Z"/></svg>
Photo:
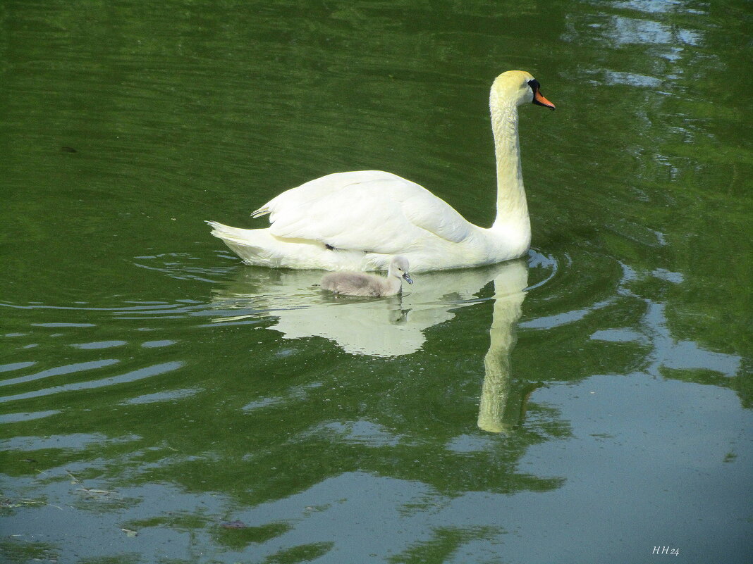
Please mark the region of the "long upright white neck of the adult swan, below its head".
<svg viewBox="0 0 753 564"><path fill-rule="evenodd" d="M520 165L517 106L514 102L498 99L493 90L490 106L497 159L497 217L492 229L513 229L518 235L530 239L531 222Z"/></svg>

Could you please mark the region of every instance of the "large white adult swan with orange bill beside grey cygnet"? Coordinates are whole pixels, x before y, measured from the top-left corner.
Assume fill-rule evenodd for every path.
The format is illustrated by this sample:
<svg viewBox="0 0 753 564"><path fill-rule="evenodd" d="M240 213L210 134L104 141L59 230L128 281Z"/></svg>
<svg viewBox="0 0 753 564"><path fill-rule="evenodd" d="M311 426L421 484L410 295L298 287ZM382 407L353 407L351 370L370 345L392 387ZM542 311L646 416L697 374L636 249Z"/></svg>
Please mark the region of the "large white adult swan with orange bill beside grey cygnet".
<svg viewBox="0 0 753 564"><path fill-rule="evenodd" d="M497 217L489 229L468 223L422 186L382 171L328 174L283 192L252 214L270 214L267 229L207 223L244 262L274 268L385 270L396 254L413 271L514 259L531 243L517 114L531 102L554 109L531 74L507 71L494 80Z"/></svg>

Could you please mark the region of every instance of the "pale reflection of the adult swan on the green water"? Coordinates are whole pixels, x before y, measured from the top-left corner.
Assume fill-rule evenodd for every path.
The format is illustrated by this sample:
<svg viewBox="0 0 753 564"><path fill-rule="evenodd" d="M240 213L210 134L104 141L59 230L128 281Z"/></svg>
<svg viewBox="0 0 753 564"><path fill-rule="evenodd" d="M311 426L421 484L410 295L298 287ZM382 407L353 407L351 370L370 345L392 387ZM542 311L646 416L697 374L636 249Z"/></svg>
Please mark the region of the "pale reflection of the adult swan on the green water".
<svg viewBox="0 0 753 564"><path fill-rule="evenodd" d="M504 432L511 396L510 352L517 321L526 296L528 267L523 259L483 268L425 272L416 276L410 292L383 299L336 297L317 284L321 271L241 268L235 280L215 290L212 306L215 323L255 323L272 318L273 329L283 338L323 337L348 353L369 356L401 356L414 353L425 342L425 330L451 320L455 311L486 299L480 293L494 284L494 310L489 329L489 350L484 359L485 377L478 426Z"/></svg>

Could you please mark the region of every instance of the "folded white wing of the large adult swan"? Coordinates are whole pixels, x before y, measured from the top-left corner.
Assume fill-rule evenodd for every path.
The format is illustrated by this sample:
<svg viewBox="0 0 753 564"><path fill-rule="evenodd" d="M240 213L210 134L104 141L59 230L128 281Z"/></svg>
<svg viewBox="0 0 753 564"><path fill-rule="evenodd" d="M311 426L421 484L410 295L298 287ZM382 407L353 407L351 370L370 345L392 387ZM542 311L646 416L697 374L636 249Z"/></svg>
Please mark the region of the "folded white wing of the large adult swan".
<svg viewBox="0 0 753 564"><path fill-rule="evenodd" d="M254 212L270 214L277 237L398 253L427 234L458 243L468 223L419 184L382 171L328 174L287 190Z"/></svg>

